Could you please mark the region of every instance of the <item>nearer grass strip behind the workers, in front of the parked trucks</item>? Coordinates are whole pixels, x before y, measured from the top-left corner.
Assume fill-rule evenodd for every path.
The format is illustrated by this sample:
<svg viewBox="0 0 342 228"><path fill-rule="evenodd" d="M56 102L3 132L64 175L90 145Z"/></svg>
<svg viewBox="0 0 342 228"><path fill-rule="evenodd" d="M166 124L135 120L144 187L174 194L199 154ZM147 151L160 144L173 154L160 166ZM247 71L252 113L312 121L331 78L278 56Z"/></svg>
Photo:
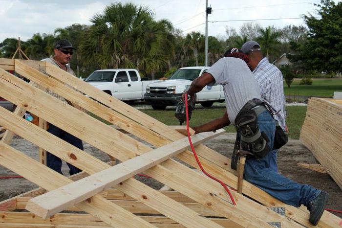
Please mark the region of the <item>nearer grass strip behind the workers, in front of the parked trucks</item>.
<svg viewBox="0 0 342 228"><path fill-rule="evenodd" d="M225 108L209 108L209 109L197 109L192 113L190 125L197 126L207 123L215 118L222 116L225 112ZM301 125L304 122L306 107L303 106L290 106L286 108L288 117L286 119L287 126L289 128L289 137L299 139ZM166 125L179 125L178 120L174 117L174 110L142 110L142 112L152 116L153 118L165 123ZM235 132L233 126L224 128L227 132Z"/></svg>

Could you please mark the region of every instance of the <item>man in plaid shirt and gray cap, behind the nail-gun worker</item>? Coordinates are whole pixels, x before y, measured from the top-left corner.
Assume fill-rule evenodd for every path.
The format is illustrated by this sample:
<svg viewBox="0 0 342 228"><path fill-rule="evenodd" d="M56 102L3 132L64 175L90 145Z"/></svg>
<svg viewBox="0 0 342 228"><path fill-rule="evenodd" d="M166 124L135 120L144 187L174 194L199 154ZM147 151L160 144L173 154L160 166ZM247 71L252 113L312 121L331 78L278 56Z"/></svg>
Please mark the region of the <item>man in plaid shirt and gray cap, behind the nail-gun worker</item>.
<svg viewBox="0 0 342 228"><path fill-rule="evenodd" d="M252 70L259 84L261 98L273 108L274 118L278 120L279 126L288 132L285 123L285 95L281 71L262 56L260 45L255 41L246 42L242 45L241 50L251 59L248 67ZM278 172L277 152L278 150L272 152L273 160L270 163L270 169L276 172Z"/></svg>

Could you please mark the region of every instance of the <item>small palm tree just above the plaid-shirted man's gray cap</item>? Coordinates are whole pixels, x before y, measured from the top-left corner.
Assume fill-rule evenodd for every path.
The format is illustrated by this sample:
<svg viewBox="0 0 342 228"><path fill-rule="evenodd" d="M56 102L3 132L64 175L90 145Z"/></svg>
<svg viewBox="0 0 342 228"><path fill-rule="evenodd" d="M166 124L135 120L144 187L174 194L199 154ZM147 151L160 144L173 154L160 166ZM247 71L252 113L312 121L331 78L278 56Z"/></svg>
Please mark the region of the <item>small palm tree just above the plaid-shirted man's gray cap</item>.
<svg viewBox="0 0 342 228"><path fill-rule="evenodd" d="M266 51L267 59L269 58L269 52L275 50L275 47L280 44L278 41L280 35L279 32L272 31L271 26L260 29L260 36L256 40L259 42L263 51Z"/></svg>

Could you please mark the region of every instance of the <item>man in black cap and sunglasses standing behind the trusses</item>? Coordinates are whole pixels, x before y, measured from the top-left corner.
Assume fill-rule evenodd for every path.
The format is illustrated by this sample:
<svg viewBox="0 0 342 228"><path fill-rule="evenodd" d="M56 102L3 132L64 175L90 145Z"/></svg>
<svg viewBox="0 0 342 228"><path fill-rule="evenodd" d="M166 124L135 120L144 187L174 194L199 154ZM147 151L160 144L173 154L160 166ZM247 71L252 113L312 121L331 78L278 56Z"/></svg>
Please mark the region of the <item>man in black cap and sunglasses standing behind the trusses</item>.
<svg viewBox="0 0 342 228"><path fill-rule="evenodd" d="M61 68L65 70L66 72L76 76L74 71L69 66L70 60L72 58L73 50L76 50L76 48L73 47L68 40L65 40L65 39L60 40L55 45L54 55L50 56L50 58L43 59L42 61L51 63L55 65L56 67ZM64 97L60 96L59 94L53 91L49 91L49 90L47 91L47 93L63 101L64 103L68 103L69 105L73 106L73 104L70 101L65 100ZM70 143L71 145L76 146L77 148L83 150L83 144L82 144L81 139L70 135L69 133L56 127L55 125L49 123L49 128L47 131L51 133L52 135L57 136L63 139L64 141ZM46 165L50 167L51 169L55 170L56 172L63 174L62 173L62 160L49 152L46 153ZM69 171L70 175L74 175L82 171L79 168L73 166L72 164L67 163L67 165L69 166L69 169L70 169Z"/></svg>

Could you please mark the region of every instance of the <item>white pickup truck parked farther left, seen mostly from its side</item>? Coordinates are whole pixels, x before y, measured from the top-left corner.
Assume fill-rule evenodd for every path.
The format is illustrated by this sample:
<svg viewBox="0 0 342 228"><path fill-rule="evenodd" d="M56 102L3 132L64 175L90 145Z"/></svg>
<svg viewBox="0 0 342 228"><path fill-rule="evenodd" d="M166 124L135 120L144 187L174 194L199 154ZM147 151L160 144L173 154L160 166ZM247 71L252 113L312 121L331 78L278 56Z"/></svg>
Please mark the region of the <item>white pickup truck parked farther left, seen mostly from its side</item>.
<svg viewBox="0 0 342 228"><path fill-rule="evenodd" d="M100 69L85 79L85 82L97 89L130 104L144 99L147 85L156 81L142 81L136 69Z"/></svg>

